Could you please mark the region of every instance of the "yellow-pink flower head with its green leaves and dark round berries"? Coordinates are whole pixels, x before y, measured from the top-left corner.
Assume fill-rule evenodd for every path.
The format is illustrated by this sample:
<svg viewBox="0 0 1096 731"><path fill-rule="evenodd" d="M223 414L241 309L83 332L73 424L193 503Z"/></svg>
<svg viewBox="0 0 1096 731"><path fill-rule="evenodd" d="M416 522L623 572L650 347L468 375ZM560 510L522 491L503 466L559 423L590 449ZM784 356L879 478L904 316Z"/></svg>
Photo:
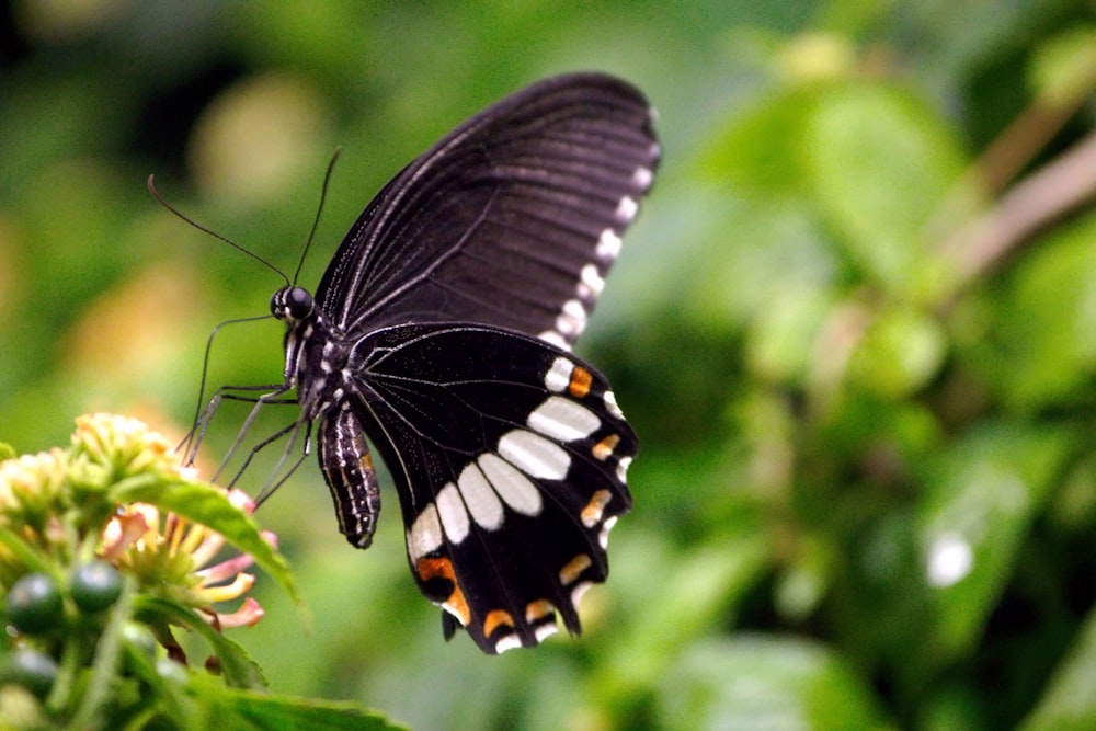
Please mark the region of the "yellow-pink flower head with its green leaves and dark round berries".
<svg viewBox="0 0 1096 731"><path fill-rule="evenodd" d="M67 449L12 454L0 445L0 727L196 728L231 705L201 694L264 687L221 630L263 616L252 564L295 592L248 495L125 416L84 415ZM179 630L205 641L222 690Z"/></svg>

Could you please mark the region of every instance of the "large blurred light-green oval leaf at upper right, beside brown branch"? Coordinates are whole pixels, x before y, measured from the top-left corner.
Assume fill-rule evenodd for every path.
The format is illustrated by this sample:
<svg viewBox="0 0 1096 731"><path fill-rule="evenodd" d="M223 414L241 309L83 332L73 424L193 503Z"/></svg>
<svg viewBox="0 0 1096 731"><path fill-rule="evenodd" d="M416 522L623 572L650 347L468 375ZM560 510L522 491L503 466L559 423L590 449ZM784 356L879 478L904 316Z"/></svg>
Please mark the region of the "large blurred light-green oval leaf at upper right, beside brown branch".
<svg viewBox="0 0 1096 731"><path fill-rule="evenodd" d="M921 100L898 87L835 85L819 98L799 152L821 214L871 278L920 304L947 290L954 272L926 228L963 159Z"/></svg>

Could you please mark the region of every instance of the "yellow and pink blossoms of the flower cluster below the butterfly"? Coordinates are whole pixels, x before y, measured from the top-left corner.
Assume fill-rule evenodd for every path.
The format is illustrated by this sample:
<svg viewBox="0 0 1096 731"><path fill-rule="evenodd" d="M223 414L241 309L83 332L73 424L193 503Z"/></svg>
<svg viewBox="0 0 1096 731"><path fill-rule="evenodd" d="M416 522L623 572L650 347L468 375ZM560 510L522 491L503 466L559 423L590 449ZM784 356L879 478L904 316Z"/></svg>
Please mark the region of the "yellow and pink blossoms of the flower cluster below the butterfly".
<svg viewBox="0 0 1096 731"><path fill-rule="evenodd" d="M134 486L153 499L127 500ZM196 610L217 628L252 626L263 616L253 598L227 612L216 606L254 584L244 572L252 556L210 564L226 546L215 526L156 504L156 495L174 498L168 501L174 504L179 494L199 489L207 498L219 492L235 510L235 515L221 511L217 519L250 521L255 505L247 494L201 482L171 443L141 422L80 416L69 449L0 461L0 529L8 532L0 541L0 589L36 568L64 567L93 553L135 580L138 592ZM273 534L261 535L276 547ZM39 566L27 566L28 556Z"/></svg>

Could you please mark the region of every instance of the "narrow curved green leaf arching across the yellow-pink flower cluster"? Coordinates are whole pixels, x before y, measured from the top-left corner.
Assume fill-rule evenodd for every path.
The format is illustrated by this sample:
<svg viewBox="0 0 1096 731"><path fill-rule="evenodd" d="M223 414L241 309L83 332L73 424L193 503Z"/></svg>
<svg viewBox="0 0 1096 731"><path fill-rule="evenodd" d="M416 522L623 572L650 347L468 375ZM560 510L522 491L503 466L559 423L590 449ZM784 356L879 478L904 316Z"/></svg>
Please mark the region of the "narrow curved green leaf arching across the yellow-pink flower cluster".
<svg viewBox="0 0 1096 731"><path fill-rule="evenodd" d="M250 553L294 602L299 601L285 559L262 537L255 522L229 502L224 490L182 480L165 482L140 475L114 486L112 498L118 502L149 503L216 530L241 552Z"/></svg>

